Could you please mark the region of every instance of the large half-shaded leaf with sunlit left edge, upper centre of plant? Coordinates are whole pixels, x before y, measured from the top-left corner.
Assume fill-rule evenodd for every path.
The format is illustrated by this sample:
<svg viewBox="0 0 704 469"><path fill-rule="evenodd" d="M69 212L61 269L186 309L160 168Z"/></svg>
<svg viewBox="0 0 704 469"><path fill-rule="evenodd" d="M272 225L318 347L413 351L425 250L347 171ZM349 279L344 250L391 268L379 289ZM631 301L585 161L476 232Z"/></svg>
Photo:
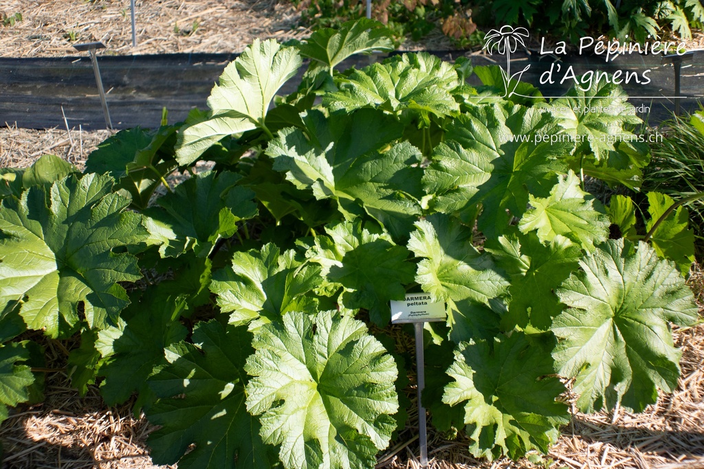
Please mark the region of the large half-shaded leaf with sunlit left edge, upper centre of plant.
<svg viewBox="0 0 704 469"><path fill-rule="evenodd" d="M381 111L361 109L329 117L303 115L306 129L279 131L267 153L274 169L318 200L332 198L348 220L368 214L395 238L408 236L420 215L420 150L394 143L403 126Z"/></svg>

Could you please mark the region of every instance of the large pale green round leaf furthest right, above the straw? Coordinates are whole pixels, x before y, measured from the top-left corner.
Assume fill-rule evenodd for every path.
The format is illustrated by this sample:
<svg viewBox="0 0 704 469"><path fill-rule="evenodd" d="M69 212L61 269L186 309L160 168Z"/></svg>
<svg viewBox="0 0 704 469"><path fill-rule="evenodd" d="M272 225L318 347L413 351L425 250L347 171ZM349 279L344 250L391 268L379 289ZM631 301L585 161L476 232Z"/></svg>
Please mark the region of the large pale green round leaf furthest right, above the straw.
<svg viewBox="0 0 704 469"><path fill-rule="evenodd" d="M608 240L579 262L558 297L570 309L556 317L556 370L577 378L577 405L585 412L619 401L636 411L672 392L681 352L669 323L690 326L698 317L691 290L674 264L639 243Z"/></svg>

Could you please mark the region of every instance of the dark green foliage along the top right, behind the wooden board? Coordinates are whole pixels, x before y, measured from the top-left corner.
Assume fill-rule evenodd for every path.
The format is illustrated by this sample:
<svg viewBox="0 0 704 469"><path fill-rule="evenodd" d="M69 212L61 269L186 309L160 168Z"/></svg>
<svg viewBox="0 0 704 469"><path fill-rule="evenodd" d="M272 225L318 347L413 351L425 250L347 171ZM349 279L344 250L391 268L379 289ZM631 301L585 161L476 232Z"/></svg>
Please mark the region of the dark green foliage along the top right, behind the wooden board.
<svg viewBox="0 0 704 469"><path fill-rule="evenodd" d="M314 30L337 28L346 20L366 15L363 0L291 3L301 11L301 23ZM656 35L662 37L666 31L691 39L691 28L704 22L704 6L699 0L382 0L373 5L372 18L393 32L396 44L407 38L417 41L441 29L465 49L481 44L482 31L503 25L530 27L557 40L578 42L580 37L605 34L643 43L653 41Z"/></svg>

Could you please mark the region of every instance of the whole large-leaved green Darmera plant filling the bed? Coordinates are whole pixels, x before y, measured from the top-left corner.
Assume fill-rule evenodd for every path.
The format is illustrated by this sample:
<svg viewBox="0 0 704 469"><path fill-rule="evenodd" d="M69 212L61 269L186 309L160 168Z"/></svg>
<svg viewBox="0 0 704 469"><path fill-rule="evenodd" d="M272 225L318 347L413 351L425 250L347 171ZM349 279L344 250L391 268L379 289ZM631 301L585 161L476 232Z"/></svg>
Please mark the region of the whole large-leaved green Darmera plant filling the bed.
<svg viewBox="0 0 704 469"><path fill-rule="evenodd" d="M630 132L622 90L564 99L625 111L562 115L537 90L517 104L471 89L466 64L427 53L334 68L388 44L371 26L256 41L210 110L103 143L87 167L106 174L51 158L2 172L0 418L34 381L23 332L80 333L74 384L99 382L110 404L137 392L157 463L372 468L404 421L389 300L419 290L448 314L424 404L475 456L547 451L569 420L558 376L583 411L674 390L670 326L697 320L691 252L673 248L686 216L653 195L653 233L632 243L632 204L604 207L584 178L635 186L643 148L543 143ZM315 58L301 86L275 98L301 53ZM211 172L153 195L201 159ZM615 226L629 240L608 239ZM168 279L127 295L155 271Z"/></svg>

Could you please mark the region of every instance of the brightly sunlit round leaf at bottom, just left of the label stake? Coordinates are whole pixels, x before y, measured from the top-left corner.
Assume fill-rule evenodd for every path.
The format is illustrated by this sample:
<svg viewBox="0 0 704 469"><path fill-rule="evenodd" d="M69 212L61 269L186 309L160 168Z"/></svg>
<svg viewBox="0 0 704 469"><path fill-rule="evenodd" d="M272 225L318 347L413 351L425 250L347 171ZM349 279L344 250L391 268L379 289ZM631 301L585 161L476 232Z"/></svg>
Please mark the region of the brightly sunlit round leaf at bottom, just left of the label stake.
<svg viewBox="0 0 704 469"><path fill-rule="evenodd" d="M394 359L364 323L289 312L258 330L247 410L287 469L373 468L398 411Z"/></svg>

